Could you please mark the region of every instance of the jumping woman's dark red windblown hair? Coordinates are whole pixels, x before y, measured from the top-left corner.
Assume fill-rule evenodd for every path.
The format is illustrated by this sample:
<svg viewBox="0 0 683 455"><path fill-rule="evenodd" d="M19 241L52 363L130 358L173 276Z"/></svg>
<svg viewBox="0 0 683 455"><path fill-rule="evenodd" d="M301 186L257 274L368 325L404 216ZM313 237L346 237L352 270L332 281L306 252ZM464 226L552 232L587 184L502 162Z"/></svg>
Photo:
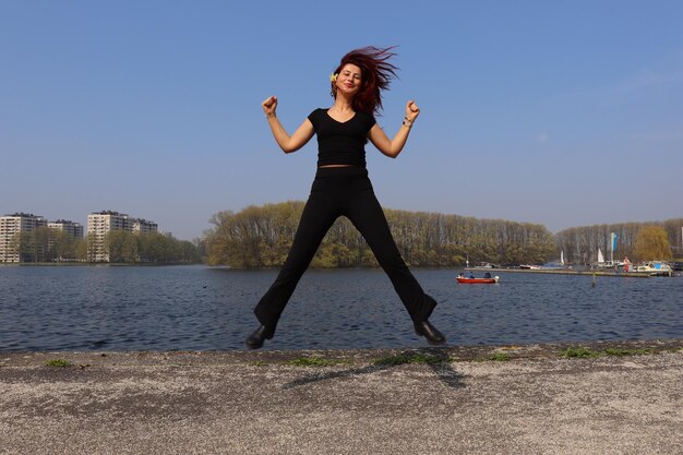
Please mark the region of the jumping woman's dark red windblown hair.
<svg viewBox="0 0 683 455"><path fill-rule="evenodd" d="M360 91L354 98L354 110L375 115L382 109L382 91L388 89L392 79L397 77L396 70L387 60L396 56L392 52L394 46L380 49L373 46L354 49L342 57L339 65L334 71L338 74L345 64L351 63L360 68ZM335 83L332 83L332 96L336 98Z"/></svg>

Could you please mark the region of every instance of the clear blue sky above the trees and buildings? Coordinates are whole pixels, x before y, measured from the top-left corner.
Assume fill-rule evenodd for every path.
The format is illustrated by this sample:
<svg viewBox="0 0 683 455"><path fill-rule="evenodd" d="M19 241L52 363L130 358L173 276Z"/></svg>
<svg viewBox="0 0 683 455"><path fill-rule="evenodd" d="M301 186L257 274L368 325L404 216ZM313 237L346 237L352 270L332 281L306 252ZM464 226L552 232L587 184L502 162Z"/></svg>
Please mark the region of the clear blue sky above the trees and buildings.
<svg viewBox="0 0 683 455"><path fill-rule="evenodd" d="M683 216L681 1L0 0L0 212L85 225L115 209L180 239L251 204L305 200L348 50L398 45L390 135L368 146L385 207L551 231Z"/></svg>

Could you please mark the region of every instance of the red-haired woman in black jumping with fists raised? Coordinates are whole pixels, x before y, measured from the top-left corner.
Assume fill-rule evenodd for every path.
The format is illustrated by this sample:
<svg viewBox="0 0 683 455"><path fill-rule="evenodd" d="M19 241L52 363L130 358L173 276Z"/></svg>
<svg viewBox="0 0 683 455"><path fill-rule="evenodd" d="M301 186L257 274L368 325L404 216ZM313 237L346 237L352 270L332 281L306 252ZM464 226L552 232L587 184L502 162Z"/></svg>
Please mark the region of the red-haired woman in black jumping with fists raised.
<svg viewBox="0 0 683 455"><path fill-rule="evenodd" d="M277 98L271 96L263 101L268 125L285 153L298 151L313 134L317 135L317 171L289 255L254 309L260 326L247 338L248 348L259 349L273 338L299 279L339 216L349 218L370 246L412 319L415 332L430 344L445 343L442 333L429 322L436 301L424 294L400 256L366 169L368 140L384 155L395 158L420 115L417 104L408 101L404 121L391 140L374 119L382 108L382 91L396 76L397 68L388 62L394 56L392 48L375 47L344 56L331 77L334 104L328 109L315 109L291 135L276 116Z"/></svg>

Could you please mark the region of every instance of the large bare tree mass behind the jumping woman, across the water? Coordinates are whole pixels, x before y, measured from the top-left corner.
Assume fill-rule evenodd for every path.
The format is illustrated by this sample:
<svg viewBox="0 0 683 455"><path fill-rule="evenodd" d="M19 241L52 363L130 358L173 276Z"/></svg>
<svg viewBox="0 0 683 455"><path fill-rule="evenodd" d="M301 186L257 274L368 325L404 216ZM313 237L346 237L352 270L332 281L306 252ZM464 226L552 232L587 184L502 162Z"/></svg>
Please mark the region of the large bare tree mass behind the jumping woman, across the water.
<svg viewBox="0 0 683 455"><path fill-rule="evenodd" d="M303 202L249 206L215 214L204 241L209 264L280 266L289 252ZM439 213L385 209L396 244L410 266L455 267L478 262L542 263L558 253L541 225L477 219ZM323 239L313 267L374 267L372 251L351 223L340 217Z"/></svg>

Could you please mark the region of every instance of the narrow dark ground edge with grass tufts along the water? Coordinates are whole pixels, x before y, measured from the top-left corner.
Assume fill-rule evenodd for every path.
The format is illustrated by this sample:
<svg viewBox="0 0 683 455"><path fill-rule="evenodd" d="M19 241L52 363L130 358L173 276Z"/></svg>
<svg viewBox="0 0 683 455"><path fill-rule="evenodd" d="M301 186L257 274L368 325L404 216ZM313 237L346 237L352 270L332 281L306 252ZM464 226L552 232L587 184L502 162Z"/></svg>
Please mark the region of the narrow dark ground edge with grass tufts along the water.
<svg viewBox="0 0 683 455"><path fill-rule="evenodd" d="M51 360L65 360L68 367L87 368L117 364L262 366L288 364L301 359L321 360L317 366L373 364L384 359L407 359L404 363L454 363L515 360L558 360L603 357L655 356L683 352L683 338L644 340L562 342L489 346L424 346L378 349L292 349L292 350L130 350L130 351L3 351L0 369L46 367ZM412 356L412 357L411 357ZM415 358L415 356L418 356ZM422 356L422 359L419 359ZM410 360L414 358L412 360ZM417 359L417 360L416 360ZM305 362L302 362L305 363ZM315 362L311 362L311 366Z"/></svg>

